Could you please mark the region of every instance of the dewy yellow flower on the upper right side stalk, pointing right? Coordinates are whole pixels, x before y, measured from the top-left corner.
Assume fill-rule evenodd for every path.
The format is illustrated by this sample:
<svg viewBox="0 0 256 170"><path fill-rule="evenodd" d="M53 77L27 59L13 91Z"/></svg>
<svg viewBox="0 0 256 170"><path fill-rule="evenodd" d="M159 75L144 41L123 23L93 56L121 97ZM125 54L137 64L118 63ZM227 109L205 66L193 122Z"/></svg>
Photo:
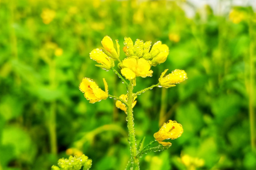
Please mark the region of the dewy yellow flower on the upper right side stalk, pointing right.
<svg viewBox="0 0 256 170"><path fill-rule="evenodd" d="M172 71L171 74L168 74L165 77L163 77L167 71L168 69L166 69L159 78L160 85L164 88L174 87L174 84L183 82L185 79L188 78L184 70L178 69Z"/></svg>

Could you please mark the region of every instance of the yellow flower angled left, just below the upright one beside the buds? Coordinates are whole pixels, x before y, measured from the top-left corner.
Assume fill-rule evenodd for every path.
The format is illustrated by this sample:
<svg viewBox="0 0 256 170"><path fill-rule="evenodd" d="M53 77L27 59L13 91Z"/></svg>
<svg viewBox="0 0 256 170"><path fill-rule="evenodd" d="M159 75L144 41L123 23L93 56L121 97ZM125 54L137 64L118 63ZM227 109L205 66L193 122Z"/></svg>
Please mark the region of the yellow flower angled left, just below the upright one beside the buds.
<svg viewBox="0 0 256 170"><path fill-rule="evenodd" d="M90 58L95 60L101 65L96 65L97 67L103 68L103 69L111 69L111 67L115 66L115 63L113 59L108 57L102 50L99 48L94 49L90 52Z"/></svg>

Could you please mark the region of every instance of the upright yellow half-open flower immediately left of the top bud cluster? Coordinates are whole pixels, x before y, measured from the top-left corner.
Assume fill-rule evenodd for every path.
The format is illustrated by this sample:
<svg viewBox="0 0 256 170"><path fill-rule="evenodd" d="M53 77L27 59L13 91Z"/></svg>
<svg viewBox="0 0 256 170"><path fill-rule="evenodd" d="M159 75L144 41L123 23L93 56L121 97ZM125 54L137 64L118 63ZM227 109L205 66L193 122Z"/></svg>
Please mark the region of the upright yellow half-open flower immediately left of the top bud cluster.
<svg viewBox="0 0 256 170"><path fill-rule="evenodd" d="M111 37L105 36L102 39L102 46L104 49L102 51L107 54L109 57L113 59L118 59L120 56L120 46L118 44L118 40L116 40L116 47L117 47L117 52L116 49L114 48L113 41Z"/></svg>

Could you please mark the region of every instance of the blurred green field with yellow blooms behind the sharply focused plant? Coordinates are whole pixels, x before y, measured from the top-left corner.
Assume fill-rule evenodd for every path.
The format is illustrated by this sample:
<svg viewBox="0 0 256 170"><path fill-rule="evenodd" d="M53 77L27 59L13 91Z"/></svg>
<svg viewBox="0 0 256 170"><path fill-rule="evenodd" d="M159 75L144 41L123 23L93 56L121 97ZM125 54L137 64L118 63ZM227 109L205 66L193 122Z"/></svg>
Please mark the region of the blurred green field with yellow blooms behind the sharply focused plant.
<svg viewBox="0 0 256 170"><path fill-rule="evenodd" d="M187 17L182 6L195 16ZM92 170L122 170L129 159L125 113L113 99L90 104L79 91L90 77L110 94L126 93L113 71L94 66L90 51L108 35L160 40L169 56L153 77L183 69L188 79L154 88L134 107L137 142L154 140L163 122L183 135L142 170L255 170L256 14L231 6L215 15L185 0L0 0L0 170L49 170L61 157L84 153ZM125 54L121 51L121 59ZM103 88L104 89L104 88Z"/></svg>

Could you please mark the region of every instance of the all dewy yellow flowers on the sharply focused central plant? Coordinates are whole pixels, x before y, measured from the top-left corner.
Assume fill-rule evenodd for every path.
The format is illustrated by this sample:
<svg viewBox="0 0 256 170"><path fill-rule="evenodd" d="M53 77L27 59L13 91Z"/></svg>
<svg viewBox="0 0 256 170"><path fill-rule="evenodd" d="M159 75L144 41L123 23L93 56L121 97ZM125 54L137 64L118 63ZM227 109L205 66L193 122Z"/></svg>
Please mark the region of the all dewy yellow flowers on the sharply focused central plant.
<svg viewBox="0 0 256 170"><path fill-rule="evenodd" d="M151 66L156 66L166 61L169 54L169 48L162 42L157 41L151 46L151 41L143 42L143 40L137 39L135 42L130 37L125 37L124 47L125 58L120 59L120 45L116 40L116 47L114 47L111 37L105 36L102 41L103 48L96 48L90 52L90 58L95 60L98 65L104 70L112 69L125 83L128 89L128 94L122 94L119 97L108 94L108 84L103 79L105 85L105 91L89 78L83 78L79 85L80 91L84 93L84 97L90 101L90 103L99 102L102 99L113 97L116 99L116 107L125 111L129 116L132 113L132 108L136 105L137 95L152 89L153 87L170 88L176 86L177 83L183 82L187 79L187 74L183 70L176 69L170 74L166 74L168 69L163 71L159 78L157 85L152 85L149 88L145 88L137 93L133 93L133 86L136 85L136 77L151 77L153 71ZM115 60L118 61L118 68L120 68L121 74L115 70ZM128 84L123 77L128 80ZM129 109L129 110L128 110ZM130 111L130 112L129 112ZM130 115L131 117L131 115ZM176 139L183 133L183 128L176 121L169 120L164 123L157 133L154 133L154 138L159 144L163 146L171 145L170 142L163 142L165 139ZM133 154L136 152L134 151Z"/></svg>

